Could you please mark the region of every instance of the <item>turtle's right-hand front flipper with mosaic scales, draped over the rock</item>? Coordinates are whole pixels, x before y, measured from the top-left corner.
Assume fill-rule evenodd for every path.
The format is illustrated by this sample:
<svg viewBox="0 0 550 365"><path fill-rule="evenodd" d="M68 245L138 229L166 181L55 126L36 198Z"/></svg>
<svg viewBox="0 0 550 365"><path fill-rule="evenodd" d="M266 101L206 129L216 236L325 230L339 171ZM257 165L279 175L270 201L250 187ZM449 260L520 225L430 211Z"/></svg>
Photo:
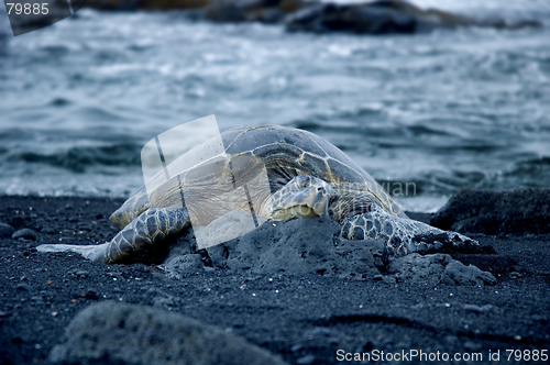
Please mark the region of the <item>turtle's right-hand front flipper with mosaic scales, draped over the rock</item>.
<svg viewBox="0 0 550 365"><path fill-rule="evenodd" d="M346 240L382 240L387 253L399 257L413 252L430 252L443 246L476 246L477 241L457 232L391 214L376 206L370 212L344 217L341 235Z"/></svg>

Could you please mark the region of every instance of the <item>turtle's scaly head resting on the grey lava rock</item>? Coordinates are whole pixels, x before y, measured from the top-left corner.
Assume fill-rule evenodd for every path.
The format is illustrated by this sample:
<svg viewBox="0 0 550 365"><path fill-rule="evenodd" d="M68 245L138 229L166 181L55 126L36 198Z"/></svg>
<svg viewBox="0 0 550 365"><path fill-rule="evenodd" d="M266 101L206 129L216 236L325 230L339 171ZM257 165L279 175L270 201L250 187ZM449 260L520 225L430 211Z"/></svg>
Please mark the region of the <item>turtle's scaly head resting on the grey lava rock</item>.
<svg viewBox="0 0 550 365"><path fill-rule="evenodd" d="M271 220L329 217L338 200L336 190L320 178L300 175L288 181L262 206L261 214Z"/></svg>

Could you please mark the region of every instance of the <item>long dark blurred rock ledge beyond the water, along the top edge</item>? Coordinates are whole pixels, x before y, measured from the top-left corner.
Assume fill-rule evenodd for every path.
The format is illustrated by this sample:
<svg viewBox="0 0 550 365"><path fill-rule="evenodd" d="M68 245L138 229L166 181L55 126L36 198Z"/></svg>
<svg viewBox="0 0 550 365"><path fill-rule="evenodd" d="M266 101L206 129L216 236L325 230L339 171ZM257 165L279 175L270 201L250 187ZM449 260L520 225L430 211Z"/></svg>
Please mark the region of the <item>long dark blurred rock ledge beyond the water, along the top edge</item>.
<svg viewBox="0 0 550 365"><path fill-rule="evenodd" d="M355 34L410 34L457 26L521 29L541 26L524 20L482 19L438 9L420 9L400 0L354 4L307 0L88 0L99 10L184 10L197 20L284 24L290 32L350 32Z"/></svg>

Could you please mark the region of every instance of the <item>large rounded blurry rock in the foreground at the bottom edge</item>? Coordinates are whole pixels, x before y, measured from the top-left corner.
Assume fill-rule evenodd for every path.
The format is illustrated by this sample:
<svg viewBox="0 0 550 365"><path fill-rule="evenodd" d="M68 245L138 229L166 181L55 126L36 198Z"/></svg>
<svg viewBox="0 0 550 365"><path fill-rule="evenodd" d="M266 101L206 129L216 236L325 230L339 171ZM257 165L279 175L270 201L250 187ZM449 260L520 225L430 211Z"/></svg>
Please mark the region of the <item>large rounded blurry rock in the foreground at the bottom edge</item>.
<svg viewBox="0 0 550 365"><path fill-rule="evenodd" d="M94 303L73 318L65 333L66 342L50 352L52 363L99 364L108 358L109 363L135 365L286 364L222 329L144 306Z"/></svg>

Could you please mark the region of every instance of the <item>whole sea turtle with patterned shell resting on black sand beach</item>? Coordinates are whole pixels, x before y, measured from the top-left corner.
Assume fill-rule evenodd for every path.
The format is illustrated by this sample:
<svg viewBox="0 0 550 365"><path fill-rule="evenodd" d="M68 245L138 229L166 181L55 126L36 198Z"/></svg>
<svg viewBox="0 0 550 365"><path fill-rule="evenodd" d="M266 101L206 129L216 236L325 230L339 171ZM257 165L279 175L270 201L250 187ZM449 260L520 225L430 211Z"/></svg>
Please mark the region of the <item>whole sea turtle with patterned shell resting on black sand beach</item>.
<svg viewBox="0 0 550 365"><path fill-rule="evenodd" d="M410 220L371 175L314 133L262 125L232 129L223 132L221 139L226 146L222 168L212 170L208 161L202 161L182 170L151 196L142 188L110 217L121 229L110 242L84 246L45 244L37 250L77 252L102 263L139 262L184 234L190 226L191 214L198 217L201 225L210 223L216 217L213 212L227 207L222 207L222 199L200 200L201 192L208 187L211 198L212 189L216 191L228 179L234 182L248 177L251 181L258 164L267 172L268 185L254 189L254 198L261 202L255 213L265 220L327 217L341 224L343 239L382 240L386 253L395 257L446 244L477 244L459 233ZM178 159L185 161L190 153ZM198 199L193 211L188 204L174 204L180 201L183 188L191 189Z"/></svg>

